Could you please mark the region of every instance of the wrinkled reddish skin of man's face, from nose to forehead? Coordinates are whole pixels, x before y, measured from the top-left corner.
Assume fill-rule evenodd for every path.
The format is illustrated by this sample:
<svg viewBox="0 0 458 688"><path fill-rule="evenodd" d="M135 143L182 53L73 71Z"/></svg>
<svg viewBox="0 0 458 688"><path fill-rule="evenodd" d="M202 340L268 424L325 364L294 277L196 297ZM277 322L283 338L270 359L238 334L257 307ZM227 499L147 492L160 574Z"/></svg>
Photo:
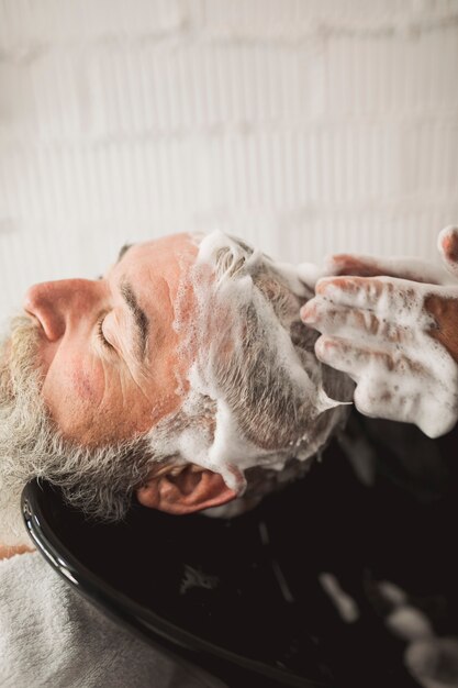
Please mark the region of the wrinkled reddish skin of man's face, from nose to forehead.
<svg viewBox="0 0 458 688"><path fill-rule="evenodd" d="M42 395L64 435L88 445L122 440L178 408L176 370L185 363L177 358L172 303L196 254L190 237L177 234L131 246L99 280L27 291L24 308L40 332ZM123 297L127 284L148 321L144 356Z"/></svg>

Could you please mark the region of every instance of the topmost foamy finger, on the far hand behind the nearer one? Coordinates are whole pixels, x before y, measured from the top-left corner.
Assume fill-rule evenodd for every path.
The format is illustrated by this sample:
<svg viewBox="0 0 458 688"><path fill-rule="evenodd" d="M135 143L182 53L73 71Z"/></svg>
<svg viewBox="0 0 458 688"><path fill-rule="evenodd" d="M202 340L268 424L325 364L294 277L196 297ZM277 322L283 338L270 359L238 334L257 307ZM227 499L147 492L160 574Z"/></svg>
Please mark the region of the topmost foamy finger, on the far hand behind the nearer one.
<svg viewBox="0 0 458 688"><path fill-rule="evenodd" d="M376 258L358 254L336 254L325 259L326 275L356 275L359 277L398 277L429 285L442 285L446 279L440 267L420 258Z"/></svg>

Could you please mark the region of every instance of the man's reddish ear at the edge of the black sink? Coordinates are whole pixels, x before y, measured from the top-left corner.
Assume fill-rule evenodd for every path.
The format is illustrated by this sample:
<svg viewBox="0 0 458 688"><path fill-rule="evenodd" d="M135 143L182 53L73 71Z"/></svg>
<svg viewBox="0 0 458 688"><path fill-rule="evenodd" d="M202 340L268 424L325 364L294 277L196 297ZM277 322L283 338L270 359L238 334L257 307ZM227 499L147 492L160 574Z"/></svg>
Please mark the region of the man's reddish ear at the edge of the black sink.
<svg viewBox="0 0 458 688"><path fill-rule="evenodd" d="M237 497L219 473L196 464L166 466L154 471L136 490L141 504L181 515L220 507Z"/></svg>

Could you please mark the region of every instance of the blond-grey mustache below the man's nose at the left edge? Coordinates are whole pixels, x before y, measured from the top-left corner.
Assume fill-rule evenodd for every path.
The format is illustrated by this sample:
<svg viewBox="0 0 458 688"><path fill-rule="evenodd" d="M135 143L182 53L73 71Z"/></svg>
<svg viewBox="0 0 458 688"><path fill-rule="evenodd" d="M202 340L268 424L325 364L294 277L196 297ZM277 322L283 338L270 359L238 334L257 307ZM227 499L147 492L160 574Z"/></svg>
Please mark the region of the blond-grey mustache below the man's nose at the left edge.
<svg viewBox="0 0 458 688"><path fill-rule="evenodd" d="M38 343L38 329L30 318L12 318L9 335L0 345L0 406L19 399L32 384L40 389Z"/></svg>

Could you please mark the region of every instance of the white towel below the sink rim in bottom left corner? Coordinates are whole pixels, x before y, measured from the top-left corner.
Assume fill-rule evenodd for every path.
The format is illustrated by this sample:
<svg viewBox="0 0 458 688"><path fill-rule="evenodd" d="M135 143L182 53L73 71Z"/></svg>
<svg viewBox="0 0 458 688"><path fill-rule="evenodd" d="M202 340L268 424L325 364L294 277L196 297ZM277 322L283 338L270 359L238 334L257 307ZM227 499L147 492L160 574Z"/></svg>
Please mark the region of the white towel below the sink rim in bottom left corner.
<svg viewBox="0 0 458 688"><path fill-rule="evenodd" d="M2 688L224 688L105 618L41 554L0 562Z"/></svg>

